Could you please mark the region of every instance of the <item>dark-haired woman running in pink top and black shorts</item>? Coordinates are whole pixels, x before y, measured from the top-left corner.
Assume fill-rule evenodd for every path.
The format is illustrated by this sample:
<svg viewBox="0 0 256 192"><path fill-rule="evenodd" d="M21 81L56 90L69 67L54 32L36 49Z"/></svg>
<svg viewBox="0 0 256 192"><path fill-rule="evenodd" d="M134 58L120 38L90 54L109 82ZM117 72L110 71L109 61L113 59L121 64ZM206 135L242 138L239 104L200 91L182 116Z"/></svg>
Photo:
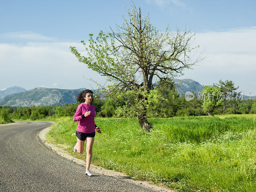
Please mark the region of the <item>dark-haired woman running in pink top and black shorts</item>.
<svg viewBox="0 0 256 192"><path fill-rule="evenodd" d="M81 104L77 107L73 121L78 121L76 128L76 145L74 152L84 152L84 141L86 140L86 171L85 175L92 176L89 168L92 161L92 145L95 137L95 131L101 133L100 128L94 122L95 106L93 103L92 91L86 89L77 94L76 100Z"/></svg>

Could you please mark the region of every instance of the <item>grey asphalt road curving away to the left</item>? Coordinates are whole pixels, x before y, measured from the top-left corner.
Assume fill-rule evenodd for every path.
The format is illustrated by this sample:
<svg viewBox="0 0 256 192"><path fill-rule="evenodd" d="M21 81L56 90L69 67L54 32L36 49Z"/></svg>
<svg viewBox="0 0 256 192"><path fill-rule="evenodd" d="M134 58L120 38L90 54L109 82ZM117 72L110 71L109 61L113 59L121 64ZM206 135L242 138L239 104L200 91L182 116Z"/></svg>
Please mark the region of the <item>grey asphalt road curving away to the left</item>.
<svg viewBox="0 0 256 192"><path fill-rule="evenodd" d="M50 122L16 121L0 125L0 192L5 191L154 191L93 172L44 145L37 134Z"/></svg>

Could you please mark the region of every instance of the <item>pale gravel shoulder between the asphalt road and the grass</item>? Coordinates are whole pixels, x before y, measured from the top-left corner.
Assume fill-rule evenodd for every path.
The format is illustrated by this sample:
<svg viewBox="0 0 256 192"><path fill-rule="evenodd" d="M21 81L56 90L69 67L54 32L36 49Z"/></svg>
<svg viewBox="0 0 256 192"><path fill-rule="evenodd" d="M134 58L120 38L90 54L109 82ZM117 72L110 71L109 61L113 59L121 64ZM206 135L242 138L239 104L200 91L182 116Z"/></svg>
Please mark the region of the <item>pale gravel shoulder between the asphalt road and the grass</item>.
<svg viewBox="0 0 256 192"><path fill-rule="evenodd" d="M49 122L49 121L48 121ZM54 122L51 122L53 124L56 124ZM50 126L51 127L51 126ZM56 152L57 154L59 154L60 156L63 156L77 164L80 164L84 167L86 167L86 162L82 159L78 159L76 158L75 156L72 156L70 155L69 152L67 152L66 150L52 144L52 143L47 143L46 142L46 139L45 139L45 135L47 132L49 132L50 130L50 127L47 127L47 128L44 128L43 130L41 130L38 134L37 134L37 137L42 140L42 142L50 149L52 149L54 152ZM160 192L175 192L174 190L171 190L171 189L168 189L164 186L157 186L155 184L152 184L148 181L140 181L140 180L136 180L136 178L131 178L127 175L125 175L124 173L122 172L116 172L116 171L113 171L113 170L108 170L108 169L104 169L102 167L98 167L98 166L95 166L93 164L91 164L90 166L90 170L92 172L97 172L97 173L100 173L100 174L103 174L103 175L106 175L106 176L110 176L110 177L116 177L118 179L122 179L122 180L125 180L125 181L128 181L130 183L133 183L133 184L136 184L136 185L139 185L141 187L145 187L145 188L149 188L149 189L154 189L154 190L157 190L157 191L160 191Z"/></svg>

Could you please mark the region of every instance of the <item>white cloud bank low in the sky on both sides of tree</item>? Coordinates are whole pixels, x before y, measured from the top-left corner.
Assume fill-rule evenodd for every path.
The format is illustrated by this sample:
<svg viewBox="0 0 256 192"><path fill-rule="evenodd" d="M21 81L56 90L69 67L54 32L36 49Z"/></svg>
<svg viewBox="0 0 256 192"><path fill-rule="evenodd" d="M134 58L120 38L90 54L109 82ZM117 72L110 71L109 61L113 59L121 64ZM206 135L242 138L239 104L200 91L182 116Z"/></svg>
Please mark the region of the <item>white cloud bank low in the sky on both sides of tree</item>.
<svg viewBox="0 0 256 192"><path fill-rule="evenodd" d="M191 78L203 85L228 79L245 94L251 91L256 95L256 27L197 33L195 44L201 50L205 47L205 55L209 57L178 78ZM77 61L70 45L86 54L84 46L76 42L0 44L0 82L6 82L0 89L16 85L28 90L42 84L58 88L62 85L63 89L97 86L83 75L104 82L104 77Z"/></svg>

